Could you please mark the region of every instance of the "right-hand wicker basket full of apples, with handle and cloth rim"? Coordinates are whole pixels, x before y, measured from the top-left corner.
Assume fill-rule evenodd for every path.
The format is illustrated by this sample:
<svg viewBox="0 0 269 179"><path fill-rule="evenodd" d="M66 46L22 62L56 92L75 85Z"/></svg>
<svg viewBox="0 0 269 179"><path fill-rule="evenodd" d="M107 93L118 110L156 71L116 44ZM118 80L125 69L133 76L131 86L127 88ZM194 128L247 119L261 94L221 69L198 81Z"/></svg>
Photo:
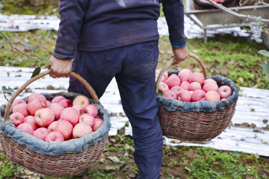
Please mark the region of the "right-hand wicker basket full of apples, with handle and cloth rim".
<svg viewBox="0 0 269 179"><path fill-rule="evenodd" d="M156 69L155 93L163 135L185 142L201 143L218 136L229 126L239 89L230 79L207 76L204 63L190 54L202 68L167 71L174 58Z"/></svg>

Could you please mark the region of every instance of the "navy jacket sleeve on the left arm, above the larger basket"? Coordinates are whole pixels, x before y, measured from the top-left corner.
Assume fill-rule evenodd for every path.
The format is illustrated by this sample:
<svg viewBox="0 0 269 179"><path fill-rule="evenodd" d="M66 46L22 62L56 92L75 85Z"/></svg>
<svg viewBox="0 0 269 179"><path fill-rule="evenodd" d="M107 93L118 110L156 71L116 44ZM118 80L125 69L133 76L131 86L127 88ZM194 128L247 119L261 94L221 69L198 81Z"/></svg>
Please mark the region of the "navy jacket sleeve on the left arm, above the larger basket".
<svg viewBox="0 0 269 179"><path fill-rule="evenodd" d="M73 58L89 0L59 0L60 24L53 55Z"/></svg>

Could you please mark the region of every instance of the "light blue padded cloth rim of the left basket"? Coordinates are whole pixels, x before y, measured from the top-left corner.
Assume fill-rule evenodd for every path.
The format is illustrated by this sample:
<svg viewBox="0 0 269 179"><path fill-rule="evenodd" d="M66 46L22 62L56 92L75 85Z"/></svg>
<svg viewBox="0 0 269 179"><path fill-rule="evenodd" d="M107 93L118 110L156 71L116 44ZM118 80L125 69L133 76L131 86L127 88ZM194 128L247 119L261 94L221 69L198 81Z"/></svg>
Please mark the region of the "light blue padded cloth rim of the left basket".
<svg viewBox="0 0 269 179"><path fill-rule="evenodd" d="M51 94L55 95L72 94L74 97L77 95L82 95L77 92L57 92ZM26 98L24 98L24 100ZM108 111L103 107L103 105L100 102L93 104L96 105L98 111L103 115L104 121L97 131L85 135L79 139L71 139L64 142L48 143L34 137L33 135L30 135L17 129L9 117L6 121L3 120L3 117L0 117L0 133L2 133L7 137L12 138L15 142L17 142L20 145L25 145L31 151L45 156L60 156L67 153L82 152L86 148L95 145L99 141L103 140L108 135L108 132L111 127L110 115ZM1 107L5 107L5 105L2 105Z"/></svg>

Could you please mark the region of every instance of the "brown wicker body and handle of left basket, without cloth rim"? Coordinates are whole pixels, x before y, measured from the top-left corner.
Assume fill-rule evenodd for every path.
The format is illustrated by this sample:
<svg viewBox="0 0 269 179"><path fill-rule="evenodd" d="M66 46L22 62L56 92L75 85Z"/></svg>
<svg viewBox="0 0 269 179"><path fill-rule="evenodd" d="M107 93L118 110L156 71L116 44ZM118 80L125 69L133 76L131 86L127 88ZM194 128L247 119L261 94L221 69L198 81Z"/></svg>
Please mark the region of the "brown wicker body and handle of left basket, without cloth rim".
<svg viewBox="0 0 269 179"><path fill-rule="evenodd" d="M6 121L7 119L9 119L8 116L10 114L9 113L10 106L12 102L14 101L15 97L20 92L22 92L23 89L25 89L30 83L32 83L33 81L49 73L50 73L50 70L47 70L31 78L11 96L9 100L10 103L8 103L5 107L3 121ZM85 85L85 87L92 94L95 104L97 103L100 104L95 91L83 78L81 78L79 75L73 72L71 73L71 76L75 77L81 83ZM100 107L100 105L98 106ZM102 109L102 112L105 113L103 115L103 119L104 119L103 123L110 124L109 114L106 113L105 109ZM108 128L107 126L109 126L109 124L104 125L104 126L102 124L100 128L102 129L104 129L104 127ZM14 126L12 127L14 128ZM19 129L15 129L15 130L20 131ZM95 136L97 137L95 139L96 144L94 145L91 145L89 143L84 145L85 138L84 139L80 138L81 141L83 141L82 142L83 147L85 148L82 152L67 152L66 154L59 155L59 156L50 156L50 155L47 155L46 153L44 154L44 152L43 153L33 152L32 150L28 148L29 146L27 145L27 143L25 143L25 145L18 144L11 137L4 135L3 134L4 131L0 131L0 143L1 143L1 146L3 148L5 155L7 156L7 159L10 160L12 164L19 164L25 169L28 169L34 173L45 175L48 177L53 177L53 178L70 177L70 176L73 176L73 175L76 175L85 171L87 168L89 168L92 165L93 162L95 162L96 160L100 158L107 144L108 130L104 133L97 132L98 130L96 131L97 133L95 134ZM28 135L28 134L25 133L25 135ZM68 146L69 146L69 144L71 144L73 141L80 140L80 139L73 139L73 140L65 141L65 142L68 142ZM34 142L40 142L40 139L36 138L34 139ZM62 142L62 144L65 142ZM68 149L66 149L66 151L68 151Z"/></svg>

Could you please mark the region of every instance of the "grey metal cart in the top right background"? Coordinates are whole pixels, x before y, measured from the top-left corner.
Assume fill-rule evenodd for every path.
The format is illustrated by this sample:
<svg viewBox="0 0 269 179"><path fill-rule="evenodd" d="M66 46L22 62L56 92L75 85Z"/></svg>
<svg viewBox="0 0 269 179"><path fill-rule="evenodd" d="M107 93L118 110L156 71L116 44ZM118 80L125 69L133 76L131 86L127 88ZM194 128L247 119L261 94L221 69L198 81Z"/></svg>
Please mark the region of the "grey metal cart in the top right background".
<svg viewBox="0 0 269 179"><path fill-rule="evenodd" d="M261 16L269 19L269 5L250 5L242 7L229 7L240 14ZM256 22L239 18L231 14L225 13L219 9L195 10L193 0L186 0L185 15L187 15L195 24L204 30L204 43L207 42L206 30L227 27L246 27ZM265 23L262 23L265 24ZM269 28L269 24L267 24ZM269 34L263 32L261 34L266 47L269 49Z"/></svg>

